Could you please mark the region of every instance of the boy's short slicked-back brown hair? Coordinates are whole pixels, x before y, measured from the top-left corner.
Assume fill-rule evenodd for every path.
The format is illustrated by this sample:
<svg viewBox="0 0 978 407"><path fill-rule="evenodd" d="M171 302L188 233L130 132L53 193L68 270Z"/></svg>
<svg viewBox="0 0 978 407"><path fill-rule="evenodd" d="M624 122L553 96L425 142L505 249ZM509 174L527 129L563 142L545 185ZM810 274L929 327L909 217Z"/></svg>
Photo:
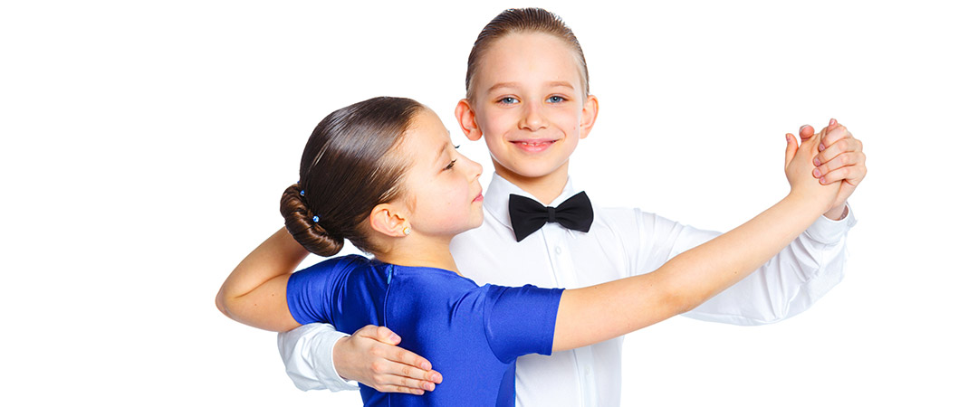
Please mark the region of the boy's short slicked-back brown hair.
<svg viewBox="0 0 978 407"><path fill-rule="evenodd" d="M584 51L581 44L577 42L574 31L570 30L563 20L555 14L544 9L509 9L500 13L495 19L489 21L479 36L472 44L472 51L468 53L468 69L466 71L466 98L473 100L473 90L471 88L472 78L479 68L479 62L486 50L492 46L496 40L515 33L542 32L551 34L563 40L577 54L578 69L581 72L581 80L584 85L584 94L591 94L590 80L588 78L588 62L584 60Z"/></svg>

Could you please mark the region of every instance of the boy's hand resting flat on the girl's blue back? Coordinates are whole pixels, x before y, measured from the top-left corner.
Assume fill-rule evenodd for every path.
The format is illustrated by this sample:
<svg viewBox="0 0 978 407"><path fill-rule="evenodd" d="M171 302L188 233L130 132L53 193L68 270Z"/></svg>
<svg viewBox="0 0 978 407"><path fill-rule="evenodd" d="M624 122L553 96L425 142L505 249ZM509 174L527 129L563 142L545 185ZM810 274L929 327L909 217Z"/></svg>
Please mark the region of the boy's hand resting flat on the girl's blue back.
<svg viewBox="0 0 978 407"><path fill-rule="evenodd" d="M346 380L381 392L423 394L441 383L431 362L398 347L401 338L386 327L367 325L333 346L333 366Z"/></svg>

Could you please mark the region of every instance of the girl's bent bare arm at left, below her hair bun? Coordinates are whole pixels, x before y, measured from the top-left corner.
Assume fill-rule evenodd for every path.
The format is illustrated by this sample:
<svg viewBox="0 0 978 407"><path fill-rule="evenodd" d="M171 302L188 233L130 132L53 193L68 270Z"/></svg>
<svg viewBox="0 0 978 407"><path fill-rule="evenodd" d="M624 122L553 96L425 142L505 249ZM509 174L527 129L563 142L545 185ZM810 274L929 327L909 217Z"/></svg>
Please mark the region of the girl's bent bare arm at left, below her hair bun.
<svg viewBox="0 0 978 407"><path fill-rule="evenodd" d="M217 308L229 318L269 331L299 326L289 312L289 274L309 255L285 227L235 267L217 292Z"/></svg>

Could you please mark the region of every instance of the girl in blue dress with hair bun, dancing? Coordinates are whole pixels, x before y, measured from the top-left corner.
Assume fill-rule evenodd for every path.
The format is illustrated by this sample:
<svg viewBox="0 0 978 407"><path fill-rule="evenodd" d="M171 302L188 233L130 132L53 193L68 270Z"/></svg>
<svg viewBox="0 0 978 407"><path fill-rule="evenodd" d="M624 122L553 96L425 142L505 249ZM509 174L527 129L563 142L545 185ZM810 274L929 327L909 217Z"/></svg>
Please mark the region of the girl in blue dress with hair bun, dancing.
<svg viewBox="0 0 978 407"><path fill-rule="evenodd" d="M362 386L366 405L512 406L516 357L599 343L683 313L804 231L839 189L811 176L820 142L821 134L799 146L788 135L788 195L654 272L577 290L478 286L455 265L449 242L482 222L481 167L453 147L421 103L355 103L323 119L307 142L299 182L281 201L289 234L248 255L221 287L217 306L280 332L309 322L345 332L386 326L444 377L423 395ZM373 258L336 258L295 273L248 266L273 255L268 247L278 239L324 257L346 239Z"/></svg>

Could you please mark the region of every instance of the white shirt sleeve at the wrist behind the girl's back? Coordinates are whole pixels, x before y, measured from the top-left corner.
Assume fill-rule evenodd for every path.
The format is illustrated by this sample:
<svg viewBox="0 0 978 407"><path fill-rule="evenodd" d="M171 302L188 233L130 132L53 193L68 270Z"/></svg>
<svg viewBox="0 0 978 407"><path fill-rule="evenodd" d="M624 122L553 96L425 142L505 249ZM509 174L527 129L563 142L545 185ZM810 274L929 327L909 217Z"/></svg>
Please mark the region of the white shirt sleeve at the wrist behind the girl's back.
<svg viewBox="0 0 978 407"><path fill-rule="evenodd" d="M311 323L279 334L279 354L286 374L301 390L356 390L354 381L343 380L333 367L333 346L348 335L333 325Z"/></svg>

